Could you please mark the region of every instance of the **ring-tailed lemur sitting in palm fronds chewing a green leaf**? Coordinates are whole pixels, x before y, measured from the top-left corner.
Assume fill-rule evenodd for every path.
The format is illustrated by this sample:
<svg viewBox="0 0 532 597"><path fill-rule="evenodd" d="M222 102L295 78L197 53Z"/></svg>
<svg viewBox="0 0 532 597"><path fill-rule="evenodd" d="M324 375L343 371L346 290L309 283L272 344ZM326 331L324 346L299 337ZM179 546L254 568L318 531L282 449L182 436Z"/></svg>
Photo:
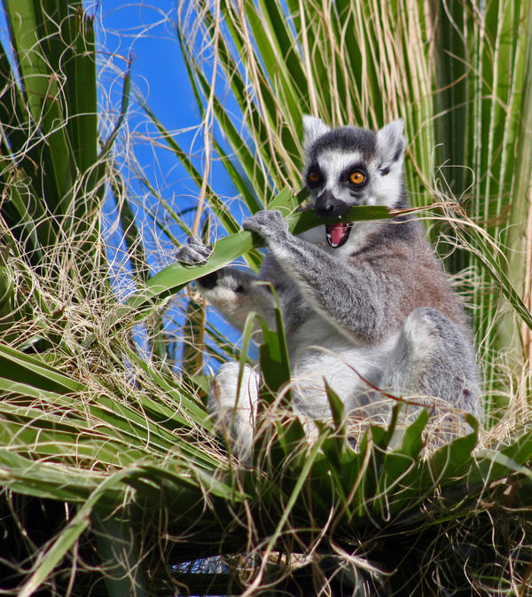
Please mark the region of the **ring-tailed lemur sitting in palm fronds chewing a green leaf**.
<svg viewBox="0 0 532 597"><path fill-rule="evenodd" d="M356 205L408 207L403 121L378 132L331 130L304 116L303 128L304 179L318 216L341 216ZM479 414L479 374L465 311L414 216L324 224L295 237L278 211L264 210L243 227L270 249L259 277L223 268L199 279L198 287L239 329L250 311L273 326L273 295L257 282L275 287L301 417L331 415L324 380L347 413L379 401L369 381L396 396L436 397ZM198 263L209 253L191 239L177 258ZM239 386L238 363L222 365L213 381L210 410L219 424L231 424L233 450L240 455L253 443L259 381L260 373L246 366Z"/></svg>

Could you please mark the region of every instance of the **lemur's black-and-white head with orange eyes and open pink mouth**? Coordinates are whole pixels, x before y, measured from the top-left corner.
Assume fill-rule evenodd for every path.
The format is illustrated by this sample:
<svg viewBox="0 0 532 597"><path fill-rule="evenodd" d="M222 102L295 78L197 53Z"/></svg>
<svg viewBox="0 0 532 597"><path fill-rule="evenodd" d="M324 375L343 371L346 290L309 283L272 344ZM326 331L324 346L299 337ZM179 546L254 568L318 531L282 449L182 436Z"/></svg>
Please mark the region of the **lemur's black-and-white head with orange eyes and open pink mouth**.
<svg viewBox="0 0 532 597"><path fill-rule="evenodd" d="M303 174L318 216L342 216L355 205L405 207L403 128L397 120L377 132L331 129L319 118L303 116ZM341 247L350 230L351 224L328 224L329 245Z"/></svg>

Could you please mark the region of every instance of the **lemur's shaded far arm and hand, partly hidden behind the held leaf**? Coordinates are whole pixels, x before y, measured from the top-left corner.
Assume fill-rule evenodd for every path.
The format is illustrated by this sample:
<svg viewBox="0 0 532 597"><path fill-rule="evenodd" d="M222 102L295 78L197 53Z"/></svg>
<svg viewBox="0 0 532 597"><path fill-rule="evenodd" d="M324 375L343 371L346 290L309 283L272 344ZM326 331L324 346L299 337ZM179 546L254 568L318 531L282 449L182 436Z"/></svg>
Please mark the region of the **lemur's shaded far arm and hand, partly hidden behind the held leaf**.
<svg viewBox="0 0 532 597"><path fill-rule="evenodd" d="M177 261L204 263L212 253L210 247L192 237L188 244L179 247ZM259 313L269 326L275 321L275 300L267 287L253 274L225 267L196 280L202 295L240 331L244 330L246 318L252 311Z"/></svg>

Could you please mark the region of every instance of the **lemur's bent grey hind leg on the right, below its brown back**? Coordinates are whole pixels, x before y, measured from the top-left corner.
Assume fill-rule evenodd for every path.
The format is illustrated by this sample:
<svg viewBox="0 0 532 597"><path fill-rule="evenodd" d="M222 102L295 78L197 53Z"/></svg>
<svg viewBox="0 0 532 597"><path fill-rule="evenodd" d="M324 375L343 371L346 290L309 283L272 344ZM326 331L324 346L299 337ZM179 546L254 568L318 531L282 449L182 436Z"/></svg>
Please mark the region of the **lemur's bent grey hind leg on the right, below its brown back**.
<svg viewBox="0 0 532 597"><path fill-rule="evenodd" d="M430 307L415 309L406 319L382 387L398 396L437 397L479 414L480 382L473 350L457 326ZM432 404L437 410L436 402Z"/></svg>

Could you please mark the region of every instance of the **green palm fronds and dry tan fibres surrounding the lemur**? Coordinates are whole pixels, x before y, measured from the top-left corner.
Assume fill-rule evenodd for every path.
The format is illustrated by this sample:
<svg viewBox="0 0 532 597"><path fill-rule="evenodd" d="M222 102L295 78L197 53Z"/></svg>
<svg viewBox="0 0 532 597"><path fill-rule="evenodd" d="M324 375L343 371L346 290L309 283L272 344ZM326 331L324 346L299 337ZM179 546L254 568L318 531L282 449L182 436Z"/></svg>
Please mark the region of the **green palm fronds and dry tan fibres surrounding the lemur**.
<svg viewBox="0 0 532 597"><path fill-rule="evenodd" d="M4 0L13 54L0 48L0 592L338 595L358 575L391 594L532 594L530 4L180 5L201 172L140 103L198 185L192 229L141 172L128 177L166 210L162 235L174 239L171 221L210 240L217 219L228 240L204 266L152 276L116 167L128 68L105 120L81 1ZM331 392L332 420L313 444L289 405L262 421L253 466L214 436L203 358L244 362L251 325L239 350L193 292L174 311L169 297L239 255L261 261L210 185L213 160L247 211L281 208L294 230L312 225L293 213L305 113L372 128L405 118L413 202L472 305L485 428L465 416L469 435L434 447L426 413L400 440L395 416L354 450ZM106 196L136 286L127 302L113 288ZM170 337L168 320L183 317ZM282 324L263 337L267 409L289 367Z"/></svg>

